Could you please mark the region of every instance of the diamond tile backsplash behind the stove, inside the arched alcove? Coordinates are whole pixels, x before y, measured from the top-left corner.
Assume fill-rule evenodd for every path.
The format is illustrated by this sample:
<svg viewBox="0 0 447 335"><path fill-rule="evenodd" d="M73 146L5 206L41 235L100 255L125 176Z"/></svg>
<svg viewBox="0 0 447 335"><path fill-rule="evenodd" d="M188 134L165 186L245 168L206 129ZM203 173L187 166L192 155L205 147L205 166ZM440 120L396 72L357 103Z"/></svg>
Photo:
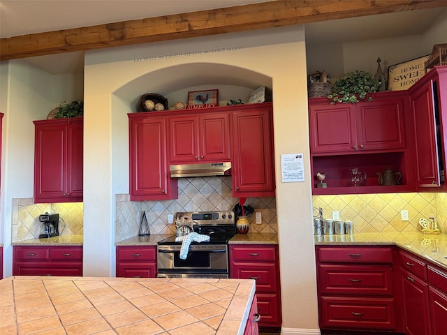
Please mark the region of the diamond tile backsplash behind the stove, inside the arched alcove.
<svg viewBox="0 0 447 335"><path fill-rule="evenodd" d="M181 178L178 181L179 197L163 201L129 201L129 194L116 195L115 241L138 234L142 212L145 211L151 233L174 234L175 225L168 224L168 214L177 211L228 211L239 198L233 198L231 177ZM249 216L249 232L277 232L275 198L247 198L255 211L260 211L262 223Z"/></svg>

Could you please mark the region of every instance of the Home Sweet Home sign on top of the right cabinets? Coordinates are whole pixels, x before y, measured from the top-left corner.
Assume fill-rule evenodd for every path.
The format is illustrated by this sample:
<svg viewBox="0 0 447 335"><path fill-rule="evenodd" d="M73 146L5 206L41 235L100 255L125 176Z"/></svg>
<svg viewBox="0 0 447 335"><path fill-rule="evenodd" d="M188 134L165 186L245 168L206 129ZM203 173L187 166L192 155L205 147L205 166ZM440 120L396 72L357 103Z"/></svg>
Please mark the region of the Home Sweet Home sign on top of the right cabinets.
<svg viewBox="0 0 447 335"><path fill-rule="evenodd" d="M402 91L409 89L420 77L425 75L425 61L430 54L424 57L404 61L388 67L388 91Z"/></svg>

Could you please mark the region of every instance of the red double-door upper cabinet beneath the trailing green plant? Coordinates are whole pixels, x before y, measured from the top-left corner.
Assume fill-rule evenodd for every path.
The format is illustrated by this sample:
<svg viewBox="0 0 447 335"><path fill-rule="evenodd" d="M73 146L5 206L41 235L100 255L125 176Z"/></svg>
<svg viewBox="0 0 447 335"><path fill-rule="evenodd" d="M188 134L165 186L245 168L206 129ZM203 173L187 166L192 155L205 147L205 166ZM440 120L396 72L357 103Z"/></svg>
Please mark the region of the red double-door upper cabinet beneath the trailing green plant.
<svg viewBox="0 0 447 335"><path fill-rule="evenodd" d="M311 152L353 153L406 147L402 92L374 94L372 101L330 105L327 98L309 100Z"/></svg>

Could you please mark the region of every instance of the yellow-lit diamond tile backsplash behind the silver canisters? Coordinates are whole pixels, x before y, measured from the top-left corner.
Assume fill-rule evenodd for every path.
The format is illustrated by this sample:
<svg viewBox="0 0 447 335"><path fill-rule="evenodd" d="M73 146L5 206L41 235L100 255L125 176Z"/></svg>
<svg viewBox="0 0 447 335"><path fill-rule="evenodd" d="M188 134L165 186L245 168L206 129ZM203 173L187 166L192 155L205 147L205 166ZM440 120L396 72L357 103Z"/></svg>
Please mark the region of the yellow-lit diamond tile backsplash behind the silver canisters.
<svg viewBox="0 0 447 335"><path fill-rule="evenodd" d="M353 221L355 232L420 232L419 219L434 215L447 234L447 193L315 195L312 200L324 218L339 211L341 219ZM408 210L409 221L402 221L402 209Z"/></svg>

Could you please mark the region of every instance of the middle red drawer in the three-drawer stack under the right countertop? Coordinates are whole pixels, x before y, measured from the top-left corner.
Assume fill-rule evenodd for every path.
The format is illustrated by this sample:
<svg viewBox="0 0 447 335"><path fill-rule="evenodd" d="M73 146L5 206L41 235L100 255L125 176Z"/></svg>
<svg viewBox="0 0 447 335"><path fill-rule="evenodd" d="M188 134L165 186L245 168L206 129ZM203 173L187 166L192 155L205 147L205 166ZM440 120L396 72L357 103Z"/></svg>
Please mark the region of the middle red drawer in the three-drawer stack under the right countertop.
<svg viewBox="0 0 447 335"><path fill-rule="evenodd" d="M391 266L319 265L321 294L393 295Z"/></svg>

